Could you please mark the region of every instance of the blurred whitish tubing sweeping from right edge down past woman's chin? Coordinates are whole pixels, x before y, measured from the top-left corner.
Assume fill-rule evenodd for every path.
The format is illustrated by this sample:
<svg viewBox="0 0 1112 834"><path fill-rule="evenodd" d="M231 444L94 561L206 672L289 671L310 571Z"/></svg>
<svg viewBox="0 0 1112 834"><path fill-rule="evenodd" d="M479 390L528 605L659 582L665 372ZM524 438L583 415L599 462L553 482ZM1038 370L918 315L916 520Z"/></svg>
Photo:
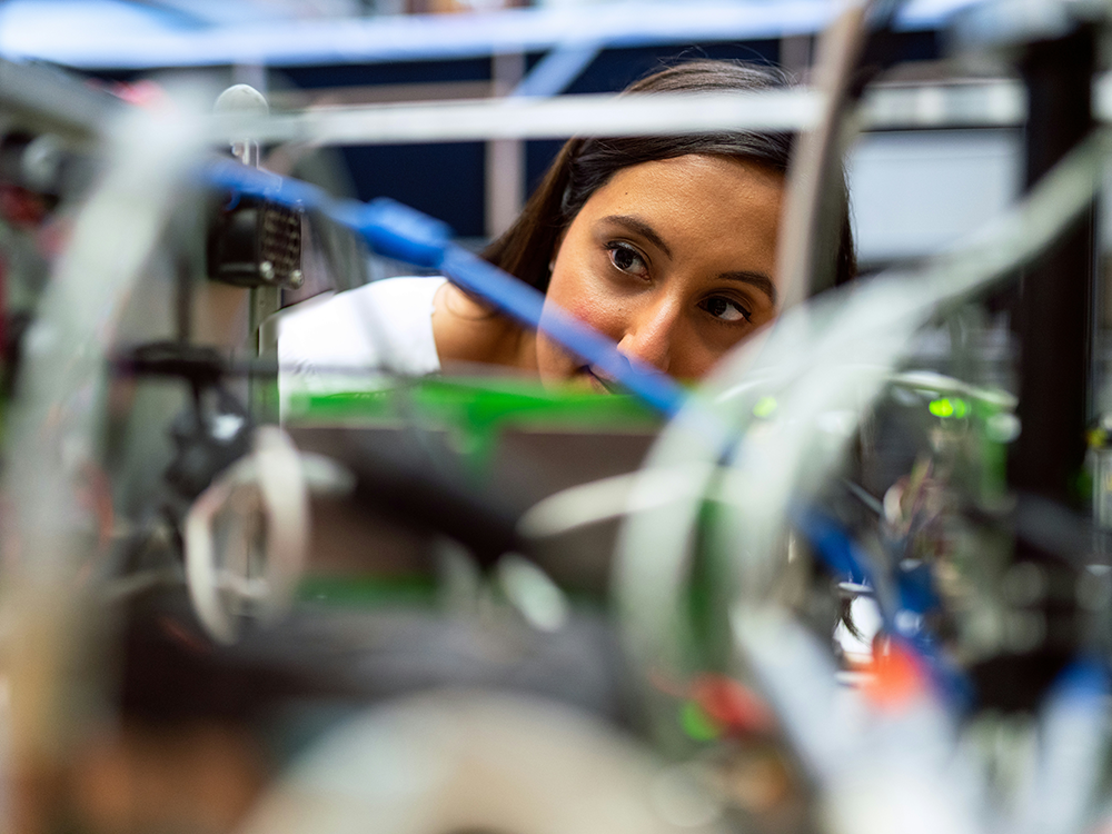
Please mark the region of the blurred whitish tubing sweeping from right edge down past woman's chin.
<svg viewBox="0 0 1112 834"><path fill-rule="evenodd" d="M921 268L893 270L790 310L767 337L741 346L719 364L697 396L727 433L743 438L729 460L732 471L724 477L712 466L722 460L721 449L688 430L682 414L649 451L631 505L638 506L643 492L656 488L655 468L667 470L679 461L692 471L704 464L703 488L688 485L671 504L656 502L652 510L631 513L618 538L616 602L626 645L643 672L682 675L691 662L684 588L703 496L715 480L725 487L731 510L712 530L716 549L729 558L723 570L727 587L719 594L756 604L780 574L776 543L791 500L817 489L848 439L824 437L818 417L837 410L857 420L940 305L1013 274L1049 246L1092 199L1108 146L1108 135L1098 131L1022 203L964 246ZM745 388L755 378L766 380L764 389ZM752 431L754 403L766 390L776 395L775 417Z"/></svg>

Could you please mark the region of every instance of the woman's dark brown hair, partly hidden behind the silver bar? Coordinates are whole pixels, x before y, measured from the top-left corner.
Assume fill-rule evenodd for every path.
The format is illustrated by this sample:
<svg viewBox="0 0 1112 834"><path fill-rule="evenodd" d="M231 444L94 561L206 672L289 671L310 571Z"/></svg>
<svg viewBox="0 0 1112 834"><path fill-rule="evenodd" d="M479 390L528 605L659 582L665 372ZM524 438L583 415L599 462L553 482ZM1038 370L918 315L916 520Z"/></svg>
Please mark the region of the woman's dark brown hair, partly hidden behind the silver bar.
<svg viewBox="0 0 1112 834"><path fill-rule="evenodd" d="M778 69L743 61L695 60L654 72L625 95L652 92L723 92L788 87ZM728 157L787 170L791 133L731 130L688 136L638 136L569 139L553 160L513 226L483 252L495 266L540 290L548 288L548 264L556 245L590 196L623 168L687 153ZM843 187L843 222L836 282L856 272L853 235Z"/></svg>

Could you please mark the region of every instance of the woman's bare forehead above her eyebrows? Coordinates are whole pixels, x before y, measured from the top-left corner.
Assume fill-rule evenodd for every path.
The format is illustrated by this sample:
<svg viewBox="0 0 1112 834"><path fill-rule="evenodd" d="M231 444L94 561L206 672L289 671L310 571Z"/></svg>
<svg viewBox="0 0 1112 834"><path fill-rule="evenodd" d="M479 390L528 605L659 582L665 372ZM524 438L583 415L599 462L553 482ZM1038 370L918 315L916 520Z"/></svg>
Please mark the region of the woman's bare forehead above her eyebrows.
<svg viewBox="0 0 1112 834"><path fill-rule="evenodd" d="M784 177L756 162L688 155L623 168L576 220L636 216L669 247L774 252ZM685 252L689 254L689 252Z"/></svg>

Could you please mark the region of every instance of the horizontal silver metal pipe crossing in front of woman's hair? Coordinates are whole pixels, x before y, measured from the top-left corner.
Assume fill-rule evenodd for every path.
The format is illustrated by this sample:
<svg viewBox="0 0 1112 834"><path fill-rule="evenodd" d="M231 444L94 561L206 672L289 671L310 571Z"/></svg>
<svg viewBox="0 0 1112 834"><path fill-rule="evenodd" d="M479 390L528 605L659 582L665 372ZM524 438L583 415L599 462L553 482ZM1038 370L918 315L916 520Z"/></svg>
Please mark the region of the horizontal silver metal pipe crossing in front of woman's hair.
<svg viewBox="0 0 1112 834"><path fill-rule="evenodd" d="M737 129L798 131L816 123L822 100L815 90L795 89L321 107L268 119L215 116L209 136L214 143L250 135L262 142L334 146ZM1102 102L1101 118L1108 120L1112 95L1099 95L1098 101ZM1023 90L1011 81L880 88L865 97L862 111L866 130L1016 127L1025 118Z"/></svg>

